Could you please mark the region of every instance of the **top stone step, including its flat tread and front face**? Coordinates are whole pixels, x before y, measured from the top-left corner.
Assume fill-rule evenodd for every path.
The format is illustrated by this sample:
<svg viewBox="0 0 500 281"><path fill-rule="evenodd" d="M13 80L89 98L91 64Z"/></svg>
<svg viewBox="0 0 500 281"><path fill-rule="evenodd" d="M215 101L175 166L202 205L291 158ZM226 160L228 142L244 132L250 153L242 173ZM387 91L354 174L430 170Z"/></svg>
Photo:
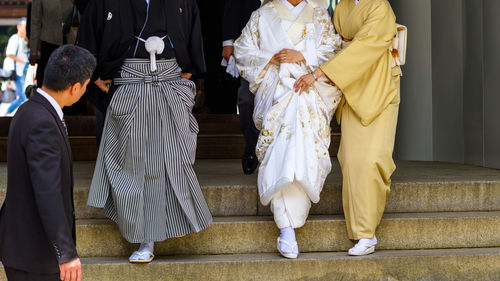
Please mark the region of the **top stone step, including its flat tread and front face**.
<svg viewBox="0 0 500 281"><path fill-rule="evenodd" d="M388 213L499 211L500 171L475 166L397 161ZM270 215L259 203L257 176L243 175L235 160L198 160L195 169L207 203L214 216ZM94 162L75 162L75 206L79 219L103 218L102 211L87 206ZM5 197L7 165L0 163L0 200ZM332 173L326 180L318 204L311 214L342 214L341 173L333 158Z"/></svg>

